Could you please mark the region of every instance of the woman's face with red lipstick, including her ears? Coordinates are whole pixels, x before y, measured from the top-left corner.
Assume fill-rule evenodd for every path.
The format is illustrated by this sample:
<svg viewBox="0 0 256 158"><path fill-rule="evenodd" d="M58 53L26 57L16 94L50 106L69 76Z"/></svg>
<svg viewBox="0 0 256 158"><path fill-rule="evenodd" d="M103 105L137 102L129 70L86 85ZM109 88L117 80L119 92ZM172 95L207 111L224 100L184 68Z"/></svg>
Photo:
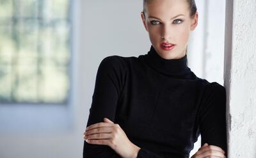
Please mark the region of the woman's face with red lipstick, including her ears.
<svg viewBox="0 0 256 158"><path fill-rule="evenodd" d="M186 54L189 33L196 28L198 13L189 15L186 0L155 0L147 4L141 19L150 41L164 59L179 59Z"/></svg>

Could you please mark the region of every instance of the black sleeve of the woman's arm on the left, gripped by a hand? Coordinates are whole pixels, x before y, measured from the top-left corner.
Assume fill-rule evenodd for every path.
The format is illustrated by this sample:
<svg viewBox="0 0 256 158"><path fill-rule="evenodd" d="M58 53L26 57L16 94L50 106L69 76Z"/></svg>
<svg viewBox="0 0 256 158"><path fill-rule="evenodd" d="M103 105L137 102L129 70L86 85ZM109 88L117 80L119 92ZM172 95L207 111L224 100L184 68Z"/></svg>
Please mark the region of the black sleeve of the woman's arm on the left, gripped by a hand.
<svg viewBox="0 0 256 158"><path fill-rule="evenodd" d="M120 71L115 56L108 56L100 62L86 127L103 122L104 117L115 122L118 95L122 87L120 82L122 80L122 72ZM83 157L116 158L120 156L108 145L94 145L84 141Z"/></svg>

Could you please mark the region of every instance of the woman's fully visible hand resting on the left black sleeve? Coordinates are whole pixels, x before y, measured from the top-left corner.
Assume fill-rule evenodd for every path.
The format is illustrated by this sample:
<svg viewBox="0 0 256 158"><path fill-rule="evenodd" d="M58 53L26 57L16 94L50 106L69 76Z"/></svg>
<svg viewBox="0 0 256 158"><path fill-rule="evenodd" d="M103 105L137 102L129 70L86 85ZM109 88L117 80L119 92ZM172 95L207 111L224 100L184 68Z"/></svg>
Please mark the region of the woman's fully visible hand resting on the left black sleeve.
<svg viewBox="0 0 256 158"><path fill-rule="evenodd" d="M120 125L104 118L104 122L95 123L86 128L84 139L87 143L108 145L121 157L137 157L140 147L134 145Z"/></svg>

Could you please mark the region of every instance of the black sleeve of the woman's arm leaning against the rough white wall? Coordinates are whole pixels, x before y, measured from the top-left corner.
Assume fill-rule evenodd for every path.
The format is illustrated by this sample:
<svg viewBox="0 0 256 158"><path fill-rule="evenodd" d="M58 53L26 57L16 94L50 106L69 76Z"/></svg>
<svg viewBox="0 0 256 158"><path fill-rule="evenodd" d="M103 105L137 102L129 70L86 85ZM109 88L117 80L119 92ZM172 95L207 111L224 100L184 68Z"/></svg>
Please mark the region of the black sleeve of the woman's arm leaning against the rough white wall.
<svg viewBox="0 0 256 158"><path fill-rule="evenodd" d="M227 154L225 87L216 82L208 84L202 105L199 114L201 145L208 143L209 145L219 146Z"/></svg>

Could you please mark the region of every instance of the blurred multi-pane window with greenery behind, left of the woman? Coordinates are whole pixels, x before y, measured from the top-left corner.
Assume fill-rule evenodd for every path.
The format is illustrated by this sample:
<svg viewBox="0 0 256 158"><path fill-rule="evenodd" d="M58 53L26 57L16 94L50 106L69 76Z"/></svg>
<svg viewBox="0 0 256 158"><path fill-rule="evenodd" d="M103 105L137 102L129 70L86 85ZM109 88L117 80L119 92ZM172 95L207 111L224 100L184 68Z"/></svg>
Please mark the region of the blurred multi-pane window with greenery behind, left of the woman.
<svg viewBox="0 0 256 158"><path fill-rule="evenodd" d="M70 91L70 1L0 1L0 103L63 104Z"/></svg>

